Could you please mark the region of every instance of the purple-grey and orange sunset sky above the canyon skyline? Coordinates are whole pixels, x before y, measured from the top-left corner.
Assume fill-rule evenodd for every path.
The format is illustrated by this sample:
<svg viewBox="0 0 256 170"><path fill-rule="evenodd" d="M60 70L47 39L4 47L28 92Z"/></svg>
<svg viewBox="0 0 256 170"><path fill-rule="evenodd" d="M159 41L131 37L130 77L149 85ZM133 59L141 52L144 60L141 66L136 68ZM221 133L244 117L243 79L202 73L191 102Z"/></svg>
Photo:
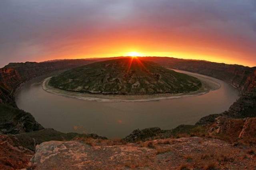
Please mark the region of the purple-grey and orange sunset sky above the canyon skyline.
<svg viewBox="0 0 256 170"><path fill-rule="evenodd" d="M130 52L256 66L256 0L1 0L0 67Z"/></svg>

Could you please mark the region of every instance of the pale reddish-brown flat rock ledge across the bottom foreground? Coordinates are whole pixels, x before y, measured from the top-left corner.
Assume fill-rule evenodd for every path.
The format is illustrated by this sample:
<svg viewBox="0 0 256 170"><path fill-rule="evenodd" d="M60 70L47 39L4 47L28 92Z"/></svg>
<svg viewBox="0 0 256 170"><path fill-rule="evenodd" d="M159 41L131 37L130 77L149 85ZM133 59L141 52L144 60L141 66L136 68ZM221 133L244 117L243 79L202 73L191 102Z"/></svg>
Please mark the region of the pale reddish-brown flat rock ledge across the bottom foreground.
<svg viewBox="0 0 256 170"><path fill-rule="evenodd" d="M164 139L137 144L106 145L106 141L44 142L32 158L35 170L253 169L250 148L237 148L208 138Z"/></svg>

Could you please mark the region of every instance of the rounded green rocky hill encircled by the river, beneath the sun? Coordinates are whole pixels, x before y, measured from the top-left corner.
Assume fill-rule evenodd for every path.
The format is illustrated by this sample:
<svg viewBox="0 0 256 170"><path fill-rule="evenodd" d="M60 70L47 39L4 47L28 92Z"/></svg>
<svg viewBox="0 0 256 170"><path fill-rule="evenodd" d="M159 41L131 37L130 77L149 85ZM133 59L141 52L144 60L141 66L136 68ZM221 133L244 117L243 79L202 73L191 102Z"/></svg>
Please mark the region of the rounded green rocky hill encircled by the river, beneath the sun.
<svg viewBox="0 0 256 170"><path fill-rule="evenodd" d="M76 92L129 95L191 92L202 86L197 78L130 57L71 69L52 77L49 84Z"/></svg>

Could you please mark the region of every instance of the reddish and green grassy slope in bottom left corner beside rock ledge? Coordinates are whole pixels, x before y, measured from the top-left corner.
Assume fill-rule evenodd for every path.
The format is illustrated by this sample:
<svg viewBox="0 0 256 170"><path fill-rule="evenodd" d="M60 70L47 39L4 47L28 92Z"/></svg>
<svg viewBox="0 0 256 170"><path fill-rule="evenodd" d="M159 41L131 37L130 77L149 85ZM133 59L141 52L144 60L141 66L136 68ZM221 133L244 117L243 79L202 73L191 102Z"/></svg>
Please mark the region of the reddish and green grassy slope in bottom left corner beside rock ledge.
<svg viewBox="0 0 256 170"><path fill-rule="evenodd" d="M75 137L107 139L96 134L65 134L53 129L43 129L16 135L0 135L0 170L33 169L30 159L34 155L37 144L50 140L67 141Z"/></svg>

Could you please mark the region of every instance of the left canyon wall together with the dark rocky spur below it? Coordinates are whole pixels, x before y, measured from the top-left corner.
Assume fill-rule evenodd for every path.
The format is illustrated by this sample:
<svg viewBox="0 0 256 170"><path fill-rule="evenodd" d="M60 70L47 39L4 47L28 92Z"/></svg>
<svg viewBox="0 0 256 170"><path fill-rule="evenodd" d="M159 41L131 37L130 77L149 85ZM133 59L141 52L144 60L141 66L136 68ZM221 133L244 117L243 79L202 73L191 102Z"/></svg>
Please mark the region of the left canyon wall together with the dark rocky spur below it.
<svg viewBox="0 0 256 170"><path fill-rule="evenodd" d="M34 117L17 108L15 91L32 78L58 70L74 68L94 60L61 60L56 62L10 63L0 69L0 134L18 134L41 130Z"/></svg>

